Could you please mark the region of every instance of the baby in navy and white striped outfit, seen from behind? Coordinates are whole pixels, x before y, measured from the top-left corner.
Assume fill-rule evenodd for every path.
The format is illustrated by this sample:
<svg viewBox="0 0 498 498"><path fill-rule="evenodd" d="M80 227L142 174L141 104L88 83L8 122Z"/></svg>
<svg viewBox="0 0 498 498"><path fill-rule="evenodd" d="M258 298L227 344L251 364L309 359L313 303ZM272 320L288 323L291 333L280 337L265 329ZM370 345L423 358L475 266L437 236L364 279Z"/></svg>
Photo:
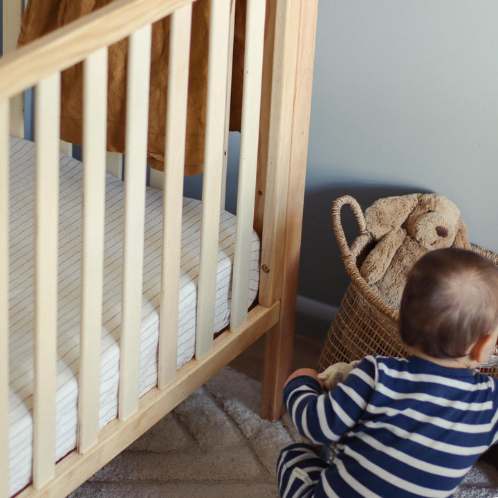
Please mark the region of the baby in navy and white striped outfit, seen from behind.
<svg viewBox="0 0 498 498"><path fill-rule="evenodd" d="M474 252L427 252L400 304L406 358L367 356L328 394L313 369L287 380L302 436L337 442L330 463L310 445L282 450L280 496L449 497L498 440L498 380L474 371L498 336L498 269Z"/></svg>

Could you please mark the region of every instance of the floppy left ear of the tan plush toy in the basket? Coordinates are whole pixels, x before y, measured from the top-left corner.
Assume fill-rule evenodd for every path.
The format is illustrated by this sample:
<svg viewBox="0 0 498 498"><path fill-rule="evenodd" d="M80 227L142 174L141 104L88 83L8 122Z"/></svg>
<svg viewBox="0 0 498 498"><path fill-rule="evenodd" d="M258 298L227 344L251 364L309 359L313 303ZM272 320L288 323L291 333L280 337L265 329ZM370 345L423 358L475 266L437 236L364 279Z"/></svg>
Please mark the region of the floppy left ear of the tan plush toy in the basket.
<svg viewBox="0 0 498 498"><path fill-rule="evenodd" d="M378 199L365 210L367 230L379 240L391 230L400 228L418 204L421 194Z"/></svg>

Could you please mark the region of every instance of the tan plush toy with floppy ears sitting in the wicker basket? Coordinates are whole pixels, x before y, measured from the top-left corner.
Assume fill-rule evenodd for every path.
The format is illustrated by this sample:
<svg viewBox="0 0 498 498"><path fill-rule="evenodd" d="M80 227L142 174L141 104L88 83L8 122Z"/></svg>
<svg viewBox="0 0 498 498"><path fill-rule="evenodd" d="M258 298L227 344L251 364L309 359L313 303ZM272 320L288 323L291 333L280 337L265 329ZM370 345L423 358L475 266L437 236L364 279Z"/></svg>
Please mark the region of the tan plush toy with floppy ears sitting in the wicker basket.
<svg viewBox="0 0 498 498"><path fill-rule="evenodd" d="M439 194L378 199L365 210L376 246L360 274L394 308L399 308L407 274L425 252L450 246L470 249L459 208Z"/></svg>

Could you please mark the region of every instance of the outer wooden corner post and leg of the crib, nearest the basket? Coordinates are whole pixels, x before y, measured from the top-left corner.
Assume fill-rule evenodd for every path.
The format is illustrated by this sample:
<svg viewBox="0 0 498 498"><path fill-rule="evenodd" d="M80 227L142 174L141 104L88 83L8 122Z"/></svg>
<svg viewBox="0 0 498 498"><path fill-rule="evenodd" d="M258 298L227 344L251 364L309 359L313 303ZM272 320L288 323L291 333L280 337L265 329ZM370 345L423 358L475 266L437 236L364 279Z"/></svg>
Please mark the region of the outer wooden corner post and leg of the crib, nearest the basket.
<svg viewBox="0 0 498 498"><path fill-rule="evenodd" d="M313 62L317 0L296 0L297 8L291 15L299 16L297 60L293 81L293 111L291 147L288 160L288 193L284 232L284 258L282 294L279 322L266 334L261 416L276 420L284 413L282 389L291 371L297 277L301 247L302 215L304 205L304 181L308 151L311 90L313 86ZM277 19L277 22L284 22ZM274 58L277 58L275 53ZM275 65L275 61L273 62Z"/></svg>

